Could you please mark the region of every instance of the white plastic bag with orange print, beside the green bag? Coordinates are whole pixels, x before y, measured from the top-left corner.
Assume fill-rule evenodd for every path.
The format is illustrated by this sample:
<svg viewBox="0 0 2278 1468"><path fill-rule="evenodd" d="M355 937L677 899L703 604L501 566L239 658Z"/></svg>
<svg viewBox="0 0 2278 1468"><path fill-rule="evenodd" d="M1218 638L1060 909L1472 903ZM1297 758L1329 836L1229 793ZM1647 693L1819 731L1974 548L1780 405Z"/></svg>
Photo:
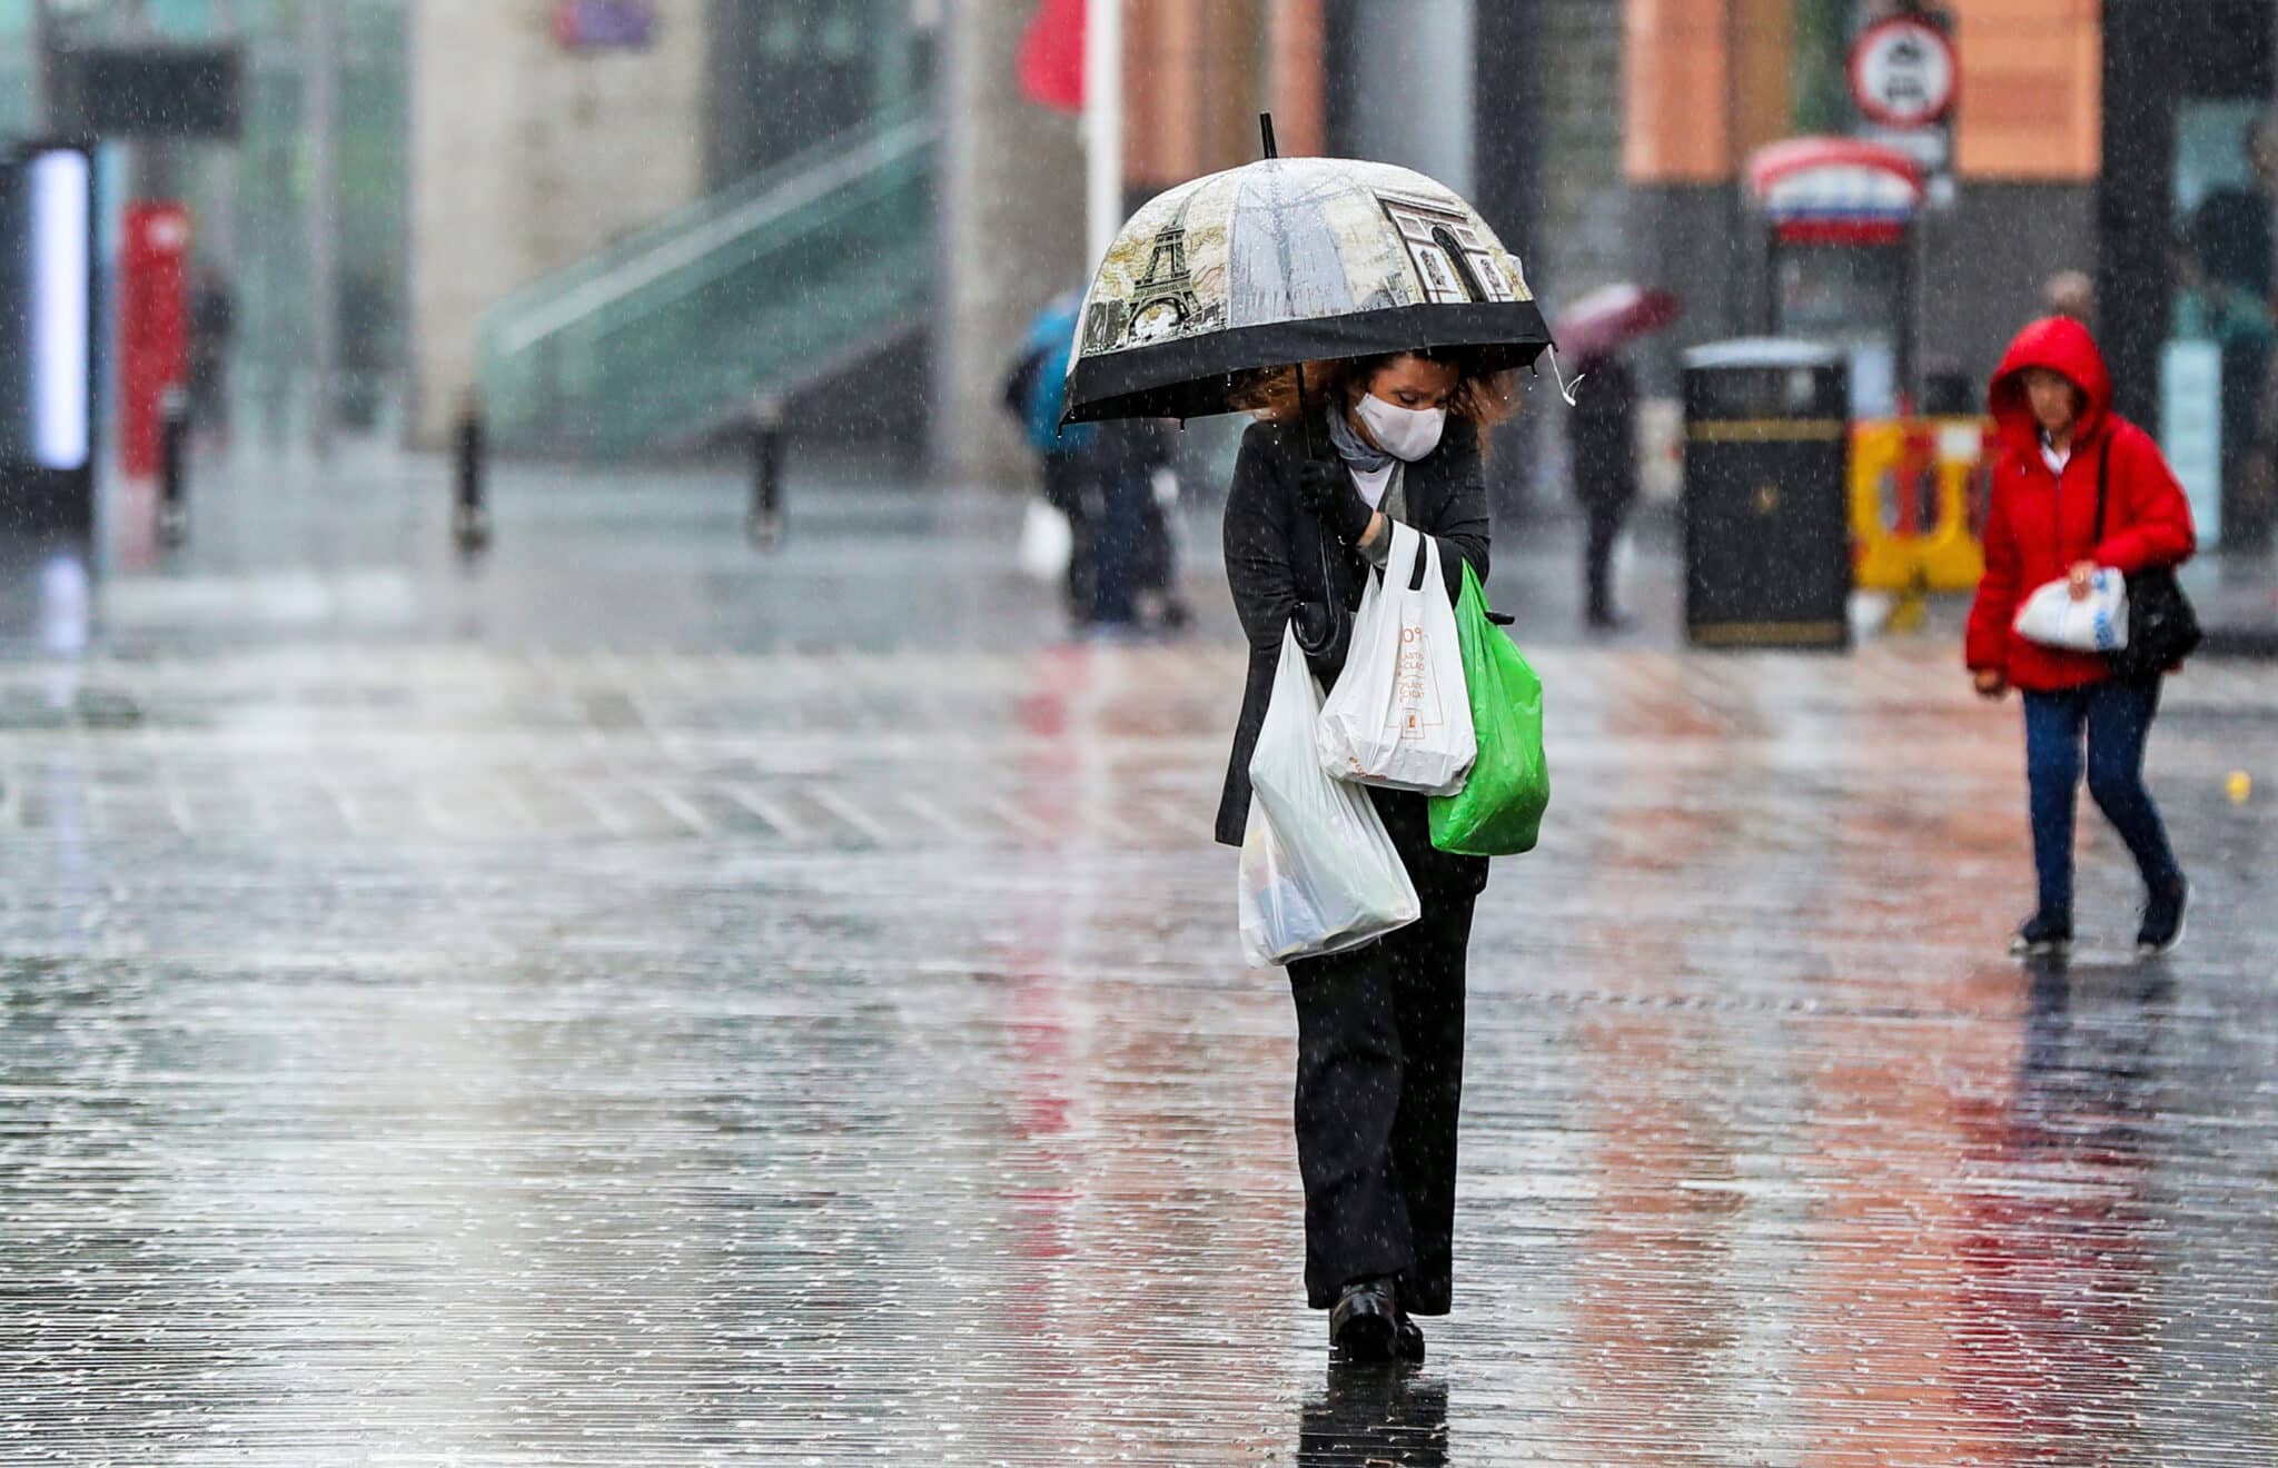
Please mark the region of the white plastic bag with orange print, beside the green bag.
<svg viewBox="0 0 2278 1468"><path fill-rule="evenodd" d="M1351 651L1321 710L1319 742L1321 769L1339 781L1421 794L1462 790L1478 740L1440 542L1392 526L1385 574L1360 592Z"/></svg>

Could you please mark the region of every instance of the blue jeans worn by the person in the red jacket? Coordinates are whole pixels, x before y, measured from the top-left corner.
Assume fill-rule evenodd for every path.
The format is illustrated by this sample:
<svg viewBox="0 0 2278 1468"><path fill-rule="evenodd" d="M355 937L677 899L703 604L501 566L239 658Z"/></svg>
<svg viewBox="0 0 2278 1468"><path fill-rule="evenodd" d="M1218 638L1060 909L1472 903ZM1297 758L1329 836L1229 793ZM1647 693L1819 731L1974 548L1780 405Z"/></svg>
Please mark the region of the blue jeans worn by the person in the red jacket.
<svg viewBox="0 0 2278 1468"><path fill-rule="evenodd" d="M2119 678L2025 694L2025 774L2032 785L2032 863L2041 913L2073 915L2073 810L2080 803L2080 735L2089 744L2089 794L2134 853L2144 885L2182 881L2160 808L2144 787L2144 740L2160 712L2160 681Z"/></svg>

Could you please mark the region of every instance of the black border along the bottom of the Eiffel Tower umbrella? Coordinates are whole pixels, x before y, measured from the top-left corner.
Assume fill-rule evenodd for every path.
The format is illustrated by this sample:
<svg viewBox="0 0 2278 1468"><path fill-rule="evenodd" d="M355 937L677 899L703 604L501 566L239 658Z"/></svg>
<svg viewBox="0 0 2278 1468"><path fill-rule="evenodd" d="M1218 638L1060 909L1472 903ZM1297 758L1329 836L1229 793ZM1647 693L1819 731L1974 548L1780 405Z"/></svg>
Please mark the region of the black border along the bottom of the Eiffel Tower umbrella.
<svg viewBox="0 0 2278 1468"><path fill-rule="evenodd" d="M1077 357L1062 423L1207 419L1260 366L1374 357L1428 346L1476 348L1485 371L1533 366L1551 332L1533 300L1396 305L1380 312L1239 325L1205 337Z"/></svg>

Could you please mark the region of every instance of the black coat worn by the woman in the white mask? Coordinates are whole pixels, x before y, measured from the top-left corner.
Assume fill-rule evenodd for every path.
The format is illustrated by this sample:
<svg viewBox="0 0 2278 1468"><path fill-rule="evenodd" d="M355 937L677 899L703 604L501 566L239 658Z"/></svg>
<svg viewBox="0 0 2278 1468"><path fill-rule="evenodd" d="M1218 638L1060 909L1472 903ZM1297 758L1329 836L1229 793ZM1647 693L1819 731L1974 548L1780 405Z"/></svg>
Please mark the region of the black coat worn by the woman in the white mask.
<svg viewBox="0 0 2278 1468"><path fill-rule="evenodd" d="M1326 439L1326 430L1317 430L1314 439ZM1267 721L1283 628L1289 617L1301 619L1301 635L1319 628L1328 621L1330 605L1346 608L1349 621L1369 571L1360 553L1339 544L1298 501L1296 476L1303 462L1305 442L1296 428L1255 423L1242 437L1235 485L1226 496L1226 580L1251 644L1242 721L1235 726L1226 792L1219 799L1216 838L1228 847L1242 844L1242 828L1251 817L1251 751ZM1472 562L1481 580L1488 578L1488 485L1478 469L1476 428L1449 419L1440 448L1408 464L1403 483L1408 523L1440 542L1440 571L1453 601L1462 594L1462 562ZM1321 685L1333 687L1344 671L1344 640L1324 642L1319 651L1308 651L1308 662Z"/></svg>

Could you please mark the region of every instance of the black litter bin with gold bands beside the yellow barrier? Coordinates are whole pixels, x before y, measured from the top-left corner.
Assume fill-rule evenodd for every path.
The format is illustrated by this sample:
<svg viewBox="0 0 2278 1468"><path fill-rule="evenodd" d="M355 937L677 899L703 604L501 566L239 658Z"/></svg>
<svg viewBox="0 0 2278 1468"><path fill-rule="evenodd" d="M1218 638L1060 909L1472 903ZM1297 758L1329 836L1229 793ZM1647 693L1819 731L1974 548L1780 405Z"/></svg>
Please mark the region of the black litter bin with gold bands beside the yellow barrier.
<svg viewBox="0 0 2278 1468"><path fill-rule="evenodd" d="M1686 635L1850 646L1850 371L1809 341L1686 353Z"/></svg>

